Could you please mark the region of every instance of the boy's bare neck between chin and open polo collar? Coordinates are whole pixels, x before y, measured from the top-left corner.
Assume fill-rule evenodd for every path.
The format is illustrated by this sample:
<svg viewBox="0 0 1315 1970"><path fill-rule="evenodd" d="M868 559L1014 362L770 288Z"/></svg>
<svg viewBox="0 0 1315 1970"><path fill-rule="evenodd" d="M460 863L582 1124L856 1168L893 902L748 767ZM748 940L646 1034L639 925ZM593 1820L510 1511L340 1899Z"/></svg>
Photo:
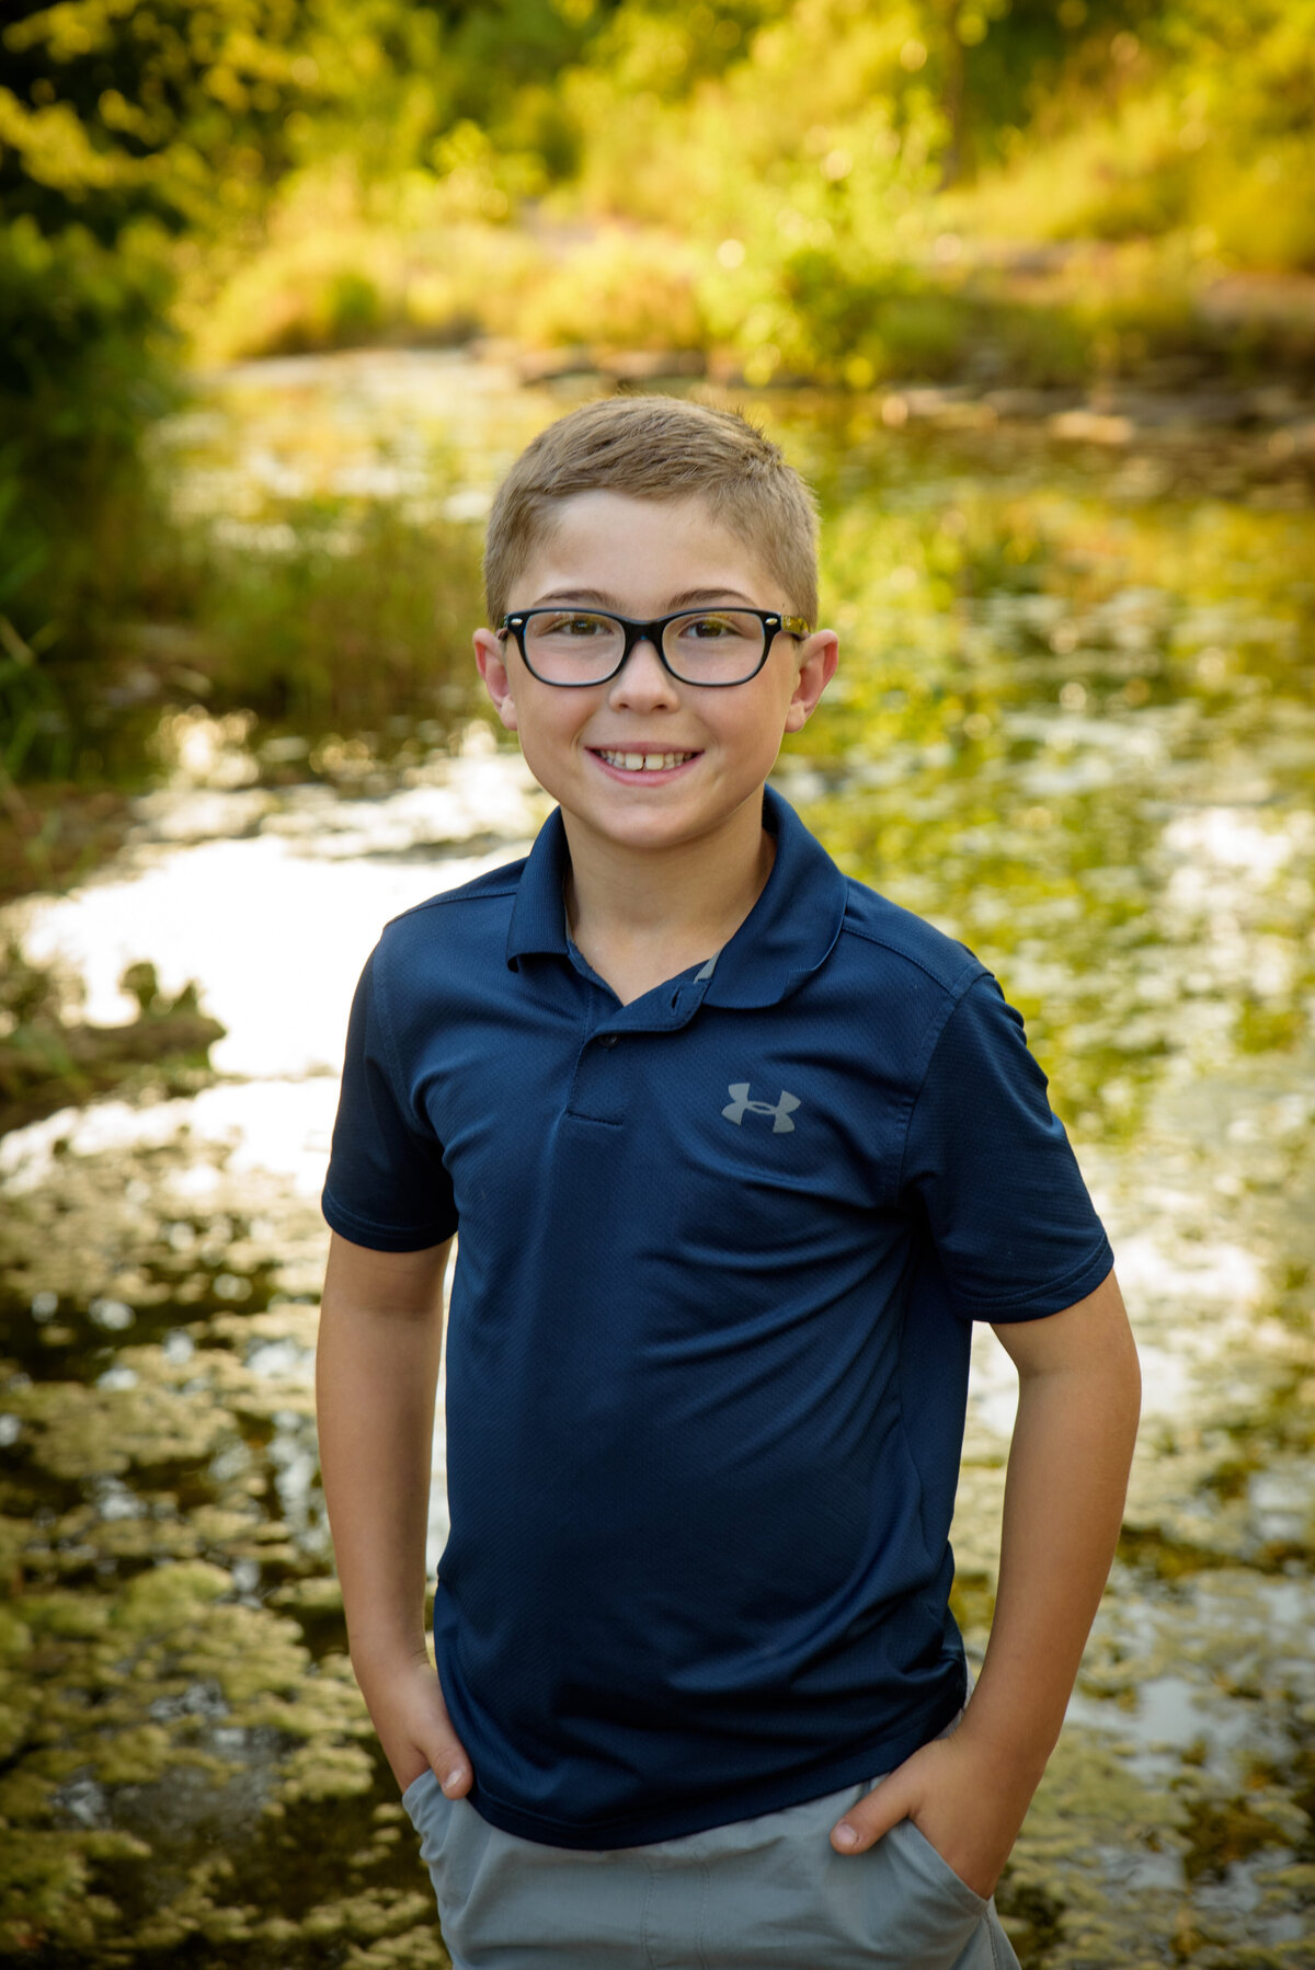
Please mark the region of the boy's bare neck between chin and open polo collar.
<svg viewBox="0 0 1315 1970"><path fill-rule="evenodd" d="M623 1005L720 952L761 896L777 857L757 800L712 839L645 853L599 841L566 814L562 820L572 936Z"/></svg>

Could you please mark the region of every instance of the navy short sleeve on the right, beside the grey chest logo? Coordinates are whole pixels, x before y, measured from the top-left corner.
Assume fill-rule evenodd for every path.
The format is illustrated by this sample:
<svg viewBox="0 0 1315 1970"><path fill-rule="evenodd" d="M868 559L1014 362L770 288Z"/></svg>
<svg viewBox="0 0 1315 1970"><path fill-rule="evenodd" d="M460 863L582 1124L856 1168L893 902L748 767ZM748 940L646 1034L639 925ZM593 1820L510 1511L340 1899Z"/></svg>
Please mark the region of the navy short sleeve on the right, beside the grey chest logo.
<svg viewBox="0 0 1315 1970"><path fill-rule="evenodd" d="M940 1032L901 1180L905 1200L921 1202L962 1318L1063 1312L1114 1265L1045 1087L1021 1015L984 973Z"/></svg>

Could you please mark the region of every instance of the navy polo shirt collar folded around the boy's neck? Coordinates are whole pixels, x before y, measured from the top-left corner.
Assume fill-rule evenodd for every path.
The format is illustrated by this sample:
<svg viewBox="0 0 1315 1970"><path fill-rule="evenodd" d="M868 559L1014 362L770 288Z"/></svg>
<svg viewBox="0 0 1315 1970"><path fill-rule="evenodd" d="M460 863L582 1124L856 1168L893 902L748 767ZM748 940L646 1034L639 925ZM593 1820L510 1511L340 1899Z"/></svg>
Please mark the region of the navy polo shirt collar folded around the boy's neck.
<svg viewBox="0 0 1315 1970"><path fill-rule="evenodd" d="M708 1005L779 1005L816 971L844 922L846 879L775 788L763 788L763 823L777 837L777 859L763 894L718 953L710 977L698 977ZM562 810L554 808L528 853L507 934L507 963L522 957L570 957L562 883L568 869ZM706 969L706 967L704 967Z"/></svg>

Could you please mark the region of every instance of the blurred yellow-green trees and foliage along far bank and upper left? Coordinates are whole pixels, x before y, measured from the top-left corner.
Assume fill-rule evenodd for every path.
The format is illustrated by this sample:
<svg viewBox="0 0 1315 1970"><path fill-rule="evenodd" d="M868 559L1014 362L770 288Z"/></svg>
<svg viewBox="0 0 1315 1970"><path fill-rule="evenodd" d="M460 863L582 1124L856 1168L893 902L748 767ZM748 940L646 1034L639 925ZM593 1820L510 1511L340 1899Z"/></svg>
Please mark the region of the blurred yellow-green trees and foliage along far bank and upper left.
<svg viewBox="0 0 1315 1970"><path fill-rule="evenodd" d="M1315 364L1315 0L0 18L10 778L67 770L59 666L177 587L142 441L189 362L491 337L844 390Z"/></svg>

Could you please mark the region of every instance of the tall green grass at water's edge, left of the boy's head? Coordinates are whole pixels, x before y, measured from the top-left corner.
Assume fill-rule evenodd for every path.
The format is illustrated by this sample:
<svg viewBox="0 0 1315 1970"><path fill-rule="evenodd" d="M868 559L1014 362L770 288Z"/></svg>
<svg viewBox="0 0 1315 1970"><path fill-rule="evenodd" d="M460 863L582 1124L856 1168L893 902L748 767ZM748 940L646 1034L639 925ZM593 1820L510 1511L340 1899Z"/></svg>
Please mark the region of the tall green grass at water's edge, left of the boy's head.
<svg viewBox="0 0 1315 1970"><path fill-rule="evenodd" d="M0 896L77 881L122 839L170 715L205 707L262 741L384 735L381 760L390 733L428 725L440 743L463 725L481 538L442 512L434 479L432 510L321 496L241 524L175 518L156 485L122 530L116 609L95 638L37 658L0 617ZM306 770L268 764L274 780Z"/></svg>

